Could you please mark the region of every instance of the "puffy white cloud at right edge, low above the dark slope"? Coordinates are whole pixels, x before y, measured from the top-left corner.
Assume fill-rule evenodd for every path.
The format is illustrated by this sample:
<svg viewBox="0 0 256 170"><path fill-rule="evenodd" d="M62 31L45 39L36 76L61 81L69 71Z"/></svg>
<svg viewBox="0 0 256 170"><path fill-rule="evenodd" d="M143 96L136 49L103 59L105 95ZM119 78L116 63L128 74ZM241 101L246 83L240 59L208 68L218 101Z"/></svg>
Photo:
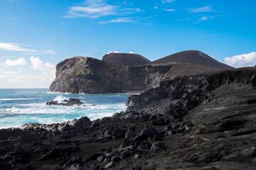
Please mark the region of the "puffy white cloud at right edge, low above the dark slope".
<svg viewBox="0 0 256 170"><path fill-rule="evenodd" d="M251 67L256 64L256 52L250 52L243 55L235 55L225 58L226 64L233 67Z"/></svg>

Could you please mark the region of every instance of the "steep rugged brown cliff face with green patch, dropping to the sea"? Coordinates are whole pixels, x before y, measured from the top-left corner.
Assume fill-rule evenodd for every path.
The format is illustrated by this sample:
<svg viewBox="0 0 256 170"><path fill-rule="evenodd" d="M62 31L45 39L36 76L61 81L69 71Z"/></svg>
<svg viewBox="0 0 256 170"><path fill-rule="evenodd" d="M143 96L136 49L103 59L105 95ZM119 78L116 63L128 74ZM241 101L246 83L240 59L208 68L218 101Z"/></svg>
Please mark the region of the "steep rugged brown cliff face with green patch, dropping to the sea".
<svg viewBox="0 0 256 170"><path fill-rule="evenodd" d="M91 57L72 57L57 64L50 91L72 94L139 92L159 86L171 66L117 66Z"/></svg>

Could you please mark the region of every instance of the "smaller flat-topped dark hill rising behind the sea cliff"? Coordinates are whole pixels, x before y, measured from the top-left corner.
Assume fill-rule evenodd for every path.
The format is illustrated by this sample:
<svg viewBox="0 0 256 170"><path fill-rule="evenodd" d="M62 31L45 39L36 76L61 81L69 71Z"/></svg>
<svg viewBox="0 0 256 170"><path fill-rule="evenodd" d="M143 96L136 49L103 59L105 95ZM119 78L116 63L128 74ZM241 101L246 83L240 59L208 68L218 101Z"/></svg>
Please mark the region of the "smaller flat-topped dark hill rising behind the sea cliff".
<svg viewBox="0 0 256 170"><path fill-rule="evenodd" d="M146 59L142 55L116 52L104 55L102 61L121 66L137 66L150 62L150 60Z"/></svg>

